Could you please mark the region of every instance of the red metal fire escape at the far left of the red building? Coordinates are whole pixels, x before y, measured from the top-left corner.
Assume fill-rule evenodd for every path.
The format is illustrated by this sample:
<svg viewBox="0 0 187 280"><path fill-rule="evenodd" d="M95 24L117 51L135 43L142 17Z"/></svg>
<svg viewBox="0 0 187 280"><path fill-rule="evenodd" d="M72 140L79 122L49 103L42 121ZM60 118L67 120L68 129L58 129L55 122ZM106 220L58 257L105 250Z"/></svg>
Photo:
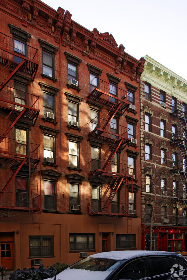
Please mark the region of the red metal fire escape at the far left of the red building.
<svg viewBox="0 0 187 280"><path fill-rule="evenodd" d="M0 32L0 208L29 211L33 214L33 228L39 228L41 211L39 144L30 143L24 135L26 130L15 126L20 122L35 125L39 97L9 86L9 81L18 72L34 81L37 69L37 49L26 45L23 54L18 47L15 50L12 37ZM22 182L15 191L16 180L22 174L28 175L27 186Z"/></svg>

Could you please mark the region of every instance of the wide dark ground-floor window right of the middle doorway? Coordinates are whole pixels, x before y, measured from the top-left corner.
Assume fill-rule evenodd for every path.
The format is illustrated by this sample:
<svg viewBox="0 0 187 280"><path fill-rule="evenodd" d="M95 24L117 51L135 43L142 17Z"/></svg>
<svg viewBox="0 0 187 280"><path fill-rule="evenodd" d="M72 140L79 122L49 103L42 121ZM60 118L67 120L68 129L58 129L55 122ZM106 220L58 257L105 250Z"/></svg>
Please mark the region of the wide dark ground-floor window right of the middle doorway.
<svg viewBox="0 0 187 280"><path fill-rule="evenodd" d="M116 249L136 249L136 234L116 234Z"/></svg>

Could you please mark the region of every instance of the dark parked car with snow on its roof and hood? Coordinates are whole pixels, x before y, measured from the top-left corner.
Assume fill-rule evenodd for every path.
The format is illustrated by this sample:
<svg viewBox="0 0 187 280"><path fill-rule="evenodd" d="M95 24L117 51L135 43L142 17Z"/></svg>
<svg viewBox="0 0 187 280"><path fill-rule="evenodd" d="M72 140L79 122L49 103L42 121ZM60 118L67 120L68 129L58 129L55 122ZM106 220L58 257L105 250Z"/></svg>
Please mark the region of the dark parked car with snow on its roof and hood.
<svg viewBox="0 0 187 280"><path fill-rule="evenodd" d="M187 275L187 260L161 251L115 251L88 256L62 271L57 280L166 280ZM46 280L50 280L46 279Z"/></svg>

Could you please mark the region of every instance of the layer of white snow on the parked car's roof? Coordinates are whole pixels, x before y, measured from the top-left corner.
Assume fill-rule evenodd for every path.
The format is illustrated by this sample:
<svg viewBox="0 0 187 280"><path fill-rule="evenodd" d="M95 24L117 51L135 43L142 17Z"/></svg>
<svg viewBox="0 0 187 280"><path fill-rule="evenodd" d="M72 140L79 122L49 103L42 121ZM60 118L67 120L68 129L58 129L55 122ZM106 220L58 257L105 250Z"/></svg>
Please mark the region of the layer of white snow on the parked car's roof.
<svg viewBox="0 0 187 280"><path fill-rule="evenodd" d="M112 260L127 260L129 258L146 256L146 255L155 255L155 254L171 254L171 252L165 251L113 251L113 252L104 252L93 254L89 257L93 258L108 258Z"/></svg>

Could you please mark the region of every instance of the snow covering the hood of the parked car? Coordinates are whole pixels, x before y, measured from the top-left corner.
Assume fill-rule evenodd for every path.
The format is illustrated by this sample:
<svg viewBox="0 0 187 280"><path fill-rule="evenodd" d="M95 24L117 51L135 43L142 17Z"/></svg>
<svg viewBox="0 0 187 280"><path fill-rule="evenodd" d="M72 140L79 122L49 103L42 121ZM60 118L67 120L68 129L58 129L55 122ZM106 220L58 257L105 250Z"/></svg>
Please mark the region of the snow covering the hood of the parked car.
<svg viewBox="0 0 187 280"><path fill-rule="evenodd" d="M56 275L56 280L104 280L110 273L111 271L90 271L84 269L67 268ZM54 277L52 279L54 279ZM51 278L45 280L51 280Z"/></svg>

